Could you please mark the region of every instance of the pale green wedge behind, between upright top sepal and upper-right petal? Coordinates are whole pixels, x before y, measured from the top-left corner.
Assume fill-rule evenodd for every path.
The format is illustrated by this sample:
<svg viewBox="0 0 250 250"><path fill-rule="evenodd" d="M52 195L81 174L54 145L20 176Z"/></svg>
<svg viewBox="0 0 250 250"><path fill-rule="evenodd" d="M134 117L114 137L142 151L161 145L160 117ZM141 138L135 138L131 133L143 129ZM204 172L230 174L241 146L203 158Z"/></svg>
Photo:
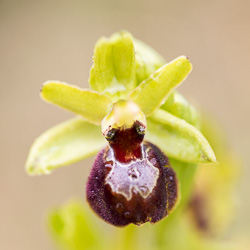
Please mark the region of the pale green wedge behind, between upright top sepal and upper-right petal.
<svg viewBox="0 0 250 250"><path fill-rule="evenodd" d="M166 63L165 59L144 42L133 38L135 46L137 84L147 79L152 73Z"/></svg>

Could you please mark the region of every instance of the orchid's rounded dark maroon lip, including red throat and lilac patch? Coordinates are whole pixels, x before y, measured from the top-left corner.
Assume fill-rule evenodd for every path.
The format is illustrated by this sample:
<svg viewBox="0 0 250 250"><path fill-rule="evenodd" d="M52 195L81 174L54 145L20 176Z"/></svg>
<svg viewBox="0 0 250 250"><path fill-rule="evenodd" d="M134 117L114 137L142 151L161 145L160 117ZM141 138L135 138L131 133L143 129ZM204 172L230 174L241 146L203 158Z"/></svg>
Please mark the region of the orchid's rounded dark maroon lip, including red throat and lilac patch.
<svg viewBox="0 0 250 250"><path fill-rule="evenodd" d="M98 154L88 179L90 206L115 226L155 223L177 200L175 172L157 146L143 142L144 131L137 121L107 133L110 146Z"/></svg>

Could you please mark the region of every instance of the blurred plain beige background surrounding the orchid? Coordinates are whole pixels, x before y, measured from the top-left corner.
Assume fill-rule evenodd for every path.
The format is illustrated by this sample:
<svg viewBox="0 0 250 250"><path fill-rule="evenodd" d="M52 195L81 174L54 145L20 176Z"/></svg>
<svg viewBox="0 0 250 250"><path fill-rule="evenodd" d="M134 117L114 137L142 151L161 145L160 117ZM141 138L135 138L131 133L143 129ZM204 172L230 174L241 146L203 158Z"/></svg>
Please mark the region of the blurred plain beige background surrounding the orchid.
<svg viewBox="0 0 250 250"><path fill-rule="evenodd" d="M42 102L48 79L88 86L94 44L120 29L166 59L187 55L194 70L180 91L215 115L243 161L233 235L248 235L250 178L250 2L247 0L0 0L0 249L53 249L44 218L84 198L94 158L29 177L29 147L72 115Z"/></svg>

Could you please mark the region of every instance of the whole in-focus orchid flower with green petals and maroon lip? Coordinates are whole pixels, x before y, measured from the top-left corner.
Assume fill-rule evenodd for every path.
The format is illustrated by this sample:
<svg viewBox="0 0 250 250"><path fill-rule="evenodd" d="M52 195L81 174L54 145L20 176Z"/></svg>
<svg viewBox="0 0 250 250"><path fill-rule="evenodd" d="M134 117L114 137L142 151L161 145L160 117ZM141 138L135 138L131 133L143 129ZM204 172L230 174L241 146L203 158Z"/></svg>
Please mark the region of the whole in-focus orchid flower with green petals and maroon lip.
<svg viewBox="0 0 250 250"><path fill-rule="evenodd" d="M186 163L216 161L198 130L197 112L174 92L191 69L185 56L164 64L127 32L100 39L91 89L58 81L43 85L43 99L81 118L57 125L35 141L28 173L48 174L101 150L87 188L94 210L120 226L160 220L178 196L177 177L164 153Z"/></svg>

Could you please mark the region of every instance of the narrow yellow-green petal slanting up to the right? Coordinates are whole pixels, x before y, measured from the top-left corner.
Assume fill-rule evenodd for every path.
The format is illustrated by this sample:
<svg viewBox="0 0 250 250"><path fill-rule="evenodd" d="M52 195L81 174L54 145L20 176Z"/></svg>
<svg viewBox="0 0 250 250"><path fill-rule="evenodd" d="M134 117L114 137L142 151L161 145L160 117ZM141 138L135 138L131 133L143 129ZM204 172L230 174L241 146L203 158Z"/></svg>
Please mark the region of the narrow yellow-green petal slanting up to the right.
<svg viewBox="0 0 250 250"><path fill-rule="evenodd" d="M187 57L178 57L143 81L130 94L130 98L149 116L166 101L171 91L185 80L191 70L192 65Z"/></svg>

